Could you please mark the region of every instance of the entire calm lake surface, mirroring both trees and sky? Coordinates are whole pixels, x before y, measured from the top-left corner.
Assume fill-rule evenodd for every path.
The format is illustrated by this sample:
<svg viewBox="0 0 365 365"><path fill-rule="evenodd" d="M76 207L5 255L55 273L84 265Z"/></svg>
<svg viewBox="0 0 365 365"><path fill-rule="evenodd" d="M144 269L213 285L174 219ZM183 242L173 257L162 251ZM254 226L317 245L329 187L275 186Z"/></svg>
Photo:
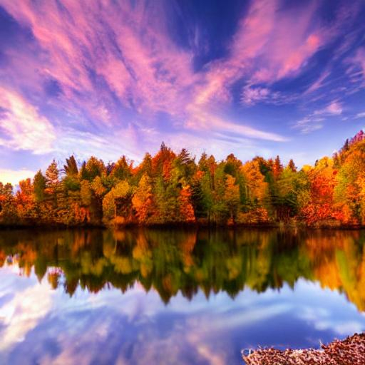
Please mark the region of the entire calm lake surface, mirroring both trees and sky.
<svg viewBox="0 0 365 365"><path fill-rule="evenodd" d="M0 364L242 364L365 330L365 232L0 232Z"/></svg>

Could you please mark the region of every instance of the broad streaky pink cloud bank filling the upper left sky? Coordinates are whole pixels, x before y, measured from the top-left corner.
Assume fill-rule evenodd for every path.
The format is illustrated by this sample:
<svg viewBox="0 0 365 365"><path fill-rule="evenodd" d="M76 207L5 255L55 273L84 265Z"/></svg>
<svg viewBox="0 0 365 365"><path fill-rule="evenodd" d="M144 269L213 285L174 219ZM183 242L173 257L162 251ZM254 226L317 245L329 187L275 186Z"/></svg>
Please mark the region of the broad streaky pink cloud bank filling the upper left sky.
<svg viewBox="0 0 365 365"><path fill-rule="evenodd" d="M97 96L89 70L103 76L126 106L141 110L180 106L181 89L194 80L191 54L178 50L163 24L151 26L142 2L133 8L127 2L85 6L82 1L64 1L68 16L53 1L37 8L31 1L5 1L4 6L31 27L48 56L41 72L61 83L69 99L74 91L93 95L95 100L87 106L91 115L98 116L101 100L108 96L103 90ZM108 24L113 35L101 24Z"/></svg>

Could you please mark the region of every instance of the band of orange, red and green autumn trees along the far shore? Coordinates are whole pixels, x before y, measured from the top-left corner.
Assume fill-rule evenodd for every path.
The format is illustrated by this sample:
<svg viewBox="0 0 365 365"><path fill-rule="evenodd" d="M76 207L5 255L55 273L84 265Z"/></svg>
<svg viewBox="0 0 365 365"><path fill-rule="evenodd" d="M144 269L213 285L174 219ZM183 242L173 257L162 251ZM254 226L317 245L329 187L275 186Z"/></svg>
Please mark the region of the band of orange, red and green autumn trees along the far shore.
<svg viewBox="0 0 365 365"><path fill-rule="evenodd" d="M1 177L0 177L1 180ZM96 157L51 162L19 187L0 183L0 225L365 226L365 133L314 166L277 156L199 160L164 143L139 165Z"/></svg>

